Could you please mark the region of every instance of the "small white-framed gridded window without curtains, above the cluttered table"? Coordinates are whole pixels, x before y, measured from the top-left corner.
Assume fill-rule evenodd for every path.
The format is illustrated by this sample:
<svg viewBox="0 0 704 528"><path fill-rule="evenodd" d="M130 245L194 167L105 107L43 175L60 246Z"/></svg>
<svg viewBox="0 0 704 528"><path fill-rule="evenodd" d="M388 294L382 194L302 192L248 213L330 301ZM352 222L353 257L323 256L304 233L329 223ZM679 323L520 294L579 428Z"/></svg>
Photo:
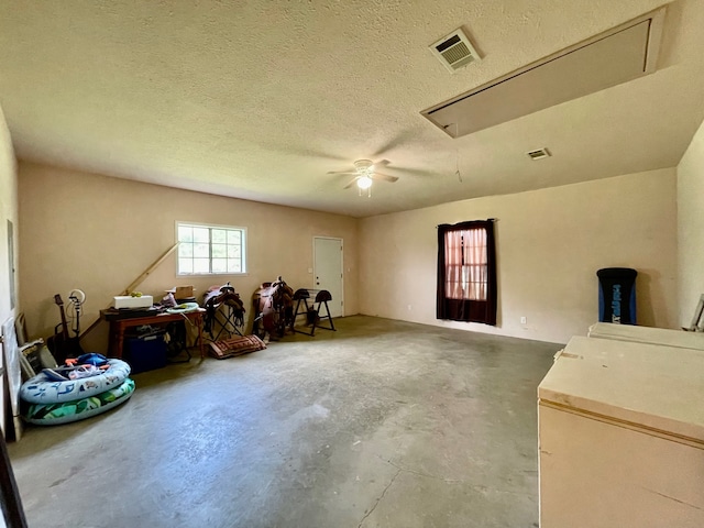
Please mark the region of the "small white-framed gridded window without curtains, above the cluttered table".
<svg viewBox="0 0 704 528"><path fill-rule="evenodd" d="M178 275L246 273L246 229L177 223Z"/></svg>

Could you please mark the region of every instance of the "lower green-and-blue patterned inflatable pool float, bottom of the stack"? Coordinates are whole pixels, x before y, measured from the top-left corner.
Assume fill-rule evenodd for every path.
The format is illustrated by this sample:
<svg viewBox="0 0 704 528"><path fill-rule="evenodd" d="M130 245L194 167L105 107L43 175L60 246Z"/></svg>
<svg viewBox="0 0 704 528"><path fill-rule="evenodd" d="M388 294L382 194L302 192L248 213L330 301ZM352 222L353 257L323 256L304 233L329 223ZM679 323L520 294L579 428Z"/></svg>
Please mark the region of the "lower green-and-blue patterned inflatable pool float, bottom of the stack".
<svg viewBox="0 0 704 528"><path fill-rule="evenodd" d="M54 404L23 404L22 418L37 426L57 426L82 420L124 404L134 392L129 377L119 386L87 398Z"/></svg>

